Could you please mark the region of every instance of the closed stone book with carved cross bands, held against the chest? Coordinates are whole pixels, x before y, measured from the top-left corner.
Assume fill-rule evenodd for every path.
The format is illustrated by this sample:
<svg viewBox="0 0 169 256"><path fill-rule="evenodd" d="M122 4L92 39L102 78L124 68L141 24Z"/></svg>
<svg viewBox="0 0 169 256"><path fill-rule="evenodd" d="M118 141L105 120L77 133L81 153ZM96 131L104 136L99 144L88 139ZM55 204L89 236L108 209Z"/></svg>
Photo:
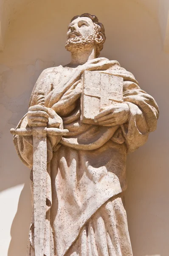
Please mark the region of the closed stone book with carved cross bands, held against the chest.
<svg viewBox="0 0 169 256"><path fill-rule="evenodd" d="M82 75L81 121L96 124L94 117L110 104L123 102L123 78L99 71Z"/></svg>

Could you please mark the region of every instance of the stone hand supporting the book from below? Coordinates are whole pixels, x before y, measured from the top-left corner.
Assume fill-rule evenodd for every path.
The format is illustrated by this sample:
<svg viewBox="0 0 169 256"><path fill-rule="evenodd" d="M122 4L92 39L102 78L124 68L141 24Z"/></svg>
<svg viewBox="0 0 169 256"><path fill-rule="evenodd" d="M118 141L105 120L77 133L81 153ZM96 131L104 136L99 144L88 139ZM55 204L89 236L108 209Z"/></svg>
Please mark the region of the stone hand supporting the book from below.
<svg viewBox="0 0 169 256"><path fill-rule="evenodd" d="M129 114L130 110L127 103L116 103L104 108L95 116L95 122L103 126L122 125L128 121Z"/></svg>

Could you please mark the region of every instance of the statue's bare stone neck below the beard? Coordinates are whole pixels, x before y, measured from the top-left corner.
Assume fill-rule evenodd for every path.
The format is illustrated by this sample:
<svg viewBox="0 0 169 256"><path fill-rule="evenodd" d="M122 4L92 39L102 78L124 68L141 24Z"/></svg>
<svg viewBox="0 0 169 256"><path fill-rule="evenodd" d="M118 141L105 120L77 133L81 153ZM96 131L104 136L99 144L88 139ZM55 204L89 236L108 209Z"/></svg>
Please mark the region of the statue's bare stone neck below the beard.
<svg viewBox="0 0 169 256"><path fill-rule="evenodd" d="M71 52L70 67L77 67L85 64L87 61L91 61L96 58L96 47L88 48L76 48L75 51Z"/></svg>

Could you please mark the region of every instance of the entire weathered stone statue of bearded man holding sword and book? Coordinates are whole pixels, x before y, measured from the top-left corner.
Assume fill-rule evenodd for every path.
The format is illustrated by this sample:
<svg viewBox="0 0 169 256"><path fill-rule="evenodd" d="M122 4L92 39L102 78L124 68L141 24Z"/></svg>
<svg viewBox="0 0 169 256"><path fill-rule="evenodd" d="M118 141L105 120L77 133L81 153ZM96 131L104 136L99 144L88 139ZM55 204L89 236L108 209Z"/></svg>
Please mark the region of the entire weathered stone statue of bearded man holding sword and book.
<svg viewBox="0 0 169 256"><path fill-rule="evenodd" d="M33 167L28 256L132 256L126 156L156 129L159 111L132 73L99 58L105 39L95 15L73 17L70 64L42 72L28 113L11 129Z"/></svg>

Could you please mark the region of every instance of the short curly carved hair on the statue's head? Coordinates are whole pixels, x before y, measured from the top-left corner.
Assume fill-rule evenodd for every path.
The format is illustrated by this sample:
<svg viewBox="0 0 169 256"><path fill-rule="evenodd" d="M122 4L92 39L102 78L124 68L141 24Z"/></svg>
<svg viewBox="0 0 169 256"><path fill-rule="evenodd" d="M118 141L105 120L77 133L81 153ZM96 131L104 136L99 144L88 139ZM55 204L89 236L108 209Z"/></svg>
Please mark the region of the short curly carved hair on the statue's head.
<svg viewBox="0 0 169 256"><path fill-rule="evenodd" d="M101 33L101 34L102 34L103 40L102 40L99 44L97 44L97 47L96 47L96 58L98 58L99 55L100 55L101 50L103 49L103 44L104 44L104 42L105 42L105 40L106 40L106 35L105 35L105 31L104 31L104 26L103 26L102 23L99 22L98 18L97 18L95 15L90 15L90 13L84 13L84 14L82 14L82 15L76 15L76 16L74 16L74 17L71 19L71 22L72 22L73 20L77 19L78 17L88 17L88 18L90 18L90 19L93 21L94 25L95 25L96 31L97 31L98 33Z"/></svg>

